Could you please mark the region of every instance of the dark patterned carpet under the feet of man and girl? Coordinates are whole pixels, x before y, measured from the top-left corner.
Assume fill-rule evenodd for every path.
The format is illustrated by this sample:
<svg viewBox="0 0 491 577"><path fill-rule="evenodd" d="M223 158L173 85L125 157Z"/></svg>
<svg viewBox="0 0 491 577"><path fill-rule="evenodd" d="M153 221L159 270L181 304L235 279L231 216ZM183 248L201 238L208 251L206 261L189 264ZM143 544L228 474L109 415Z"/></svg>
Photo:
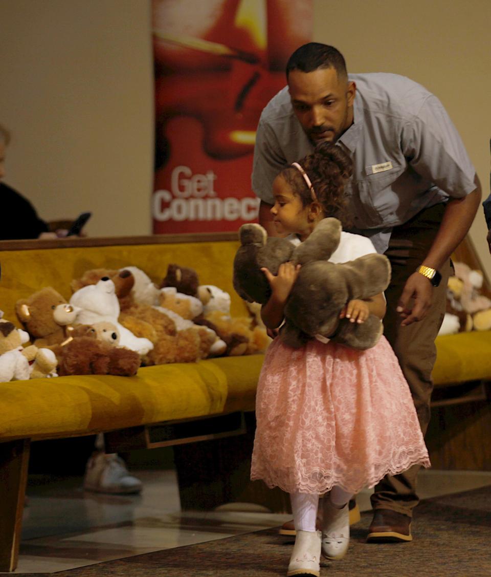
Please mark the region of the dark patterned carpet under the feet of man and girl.
<svg viewBox="0 0 491 577"><path fill-rule="evenodd" d="M364 542L371 514L352 527L348 555L321 577L491 576L491 486L423 501L414 541ZM56 577L275 577L286 575L293 539L259 531L177 549L108 561ZM40 574L38 574L40 577Z"/></svg>

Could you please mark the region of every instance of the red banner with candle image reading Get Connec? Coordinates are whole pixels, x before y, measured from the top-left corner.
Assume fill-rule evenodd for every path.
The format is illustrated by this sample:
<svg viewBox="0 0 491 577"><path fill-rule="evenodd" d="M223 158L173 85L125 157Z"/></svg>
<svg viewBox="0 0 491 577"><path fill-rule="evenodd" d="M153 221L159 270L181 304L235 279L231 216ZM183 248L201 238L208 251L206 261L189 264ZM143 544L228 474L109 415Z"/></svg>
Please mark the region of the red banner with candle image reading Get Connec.
<svg viewBox="0 0 491 577"><path fill-rule="evenodd" d="M154 234L257 219L256 126L312 12L312 0L153 0Z"/></svg>

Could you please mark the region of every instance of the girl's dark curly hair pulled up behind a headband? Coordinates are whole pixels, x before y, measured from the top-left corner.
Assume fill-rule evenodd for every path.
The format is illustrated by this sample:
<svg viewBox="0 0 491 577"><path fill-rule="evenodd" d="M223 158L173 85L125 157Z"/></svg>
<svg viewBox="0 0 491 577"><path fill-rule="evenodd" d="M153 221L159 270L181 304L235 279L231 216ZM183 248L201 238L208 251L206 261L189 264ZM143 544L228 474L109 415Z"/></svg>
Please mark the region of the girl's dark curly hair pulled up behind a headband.
<svg viewBox="0 0 491 577"><path fill-rule="evenodd" d="M334 144L324 142L318 144L314 152L301 159L299 164L312 182L324 214L334 216L341 220L343 227L348 227L351 219L346 211L344 189L353 171L353 163L348 153ZM312 194L297 168L288 166L281 174L304 207L312 203Z"/></svg>

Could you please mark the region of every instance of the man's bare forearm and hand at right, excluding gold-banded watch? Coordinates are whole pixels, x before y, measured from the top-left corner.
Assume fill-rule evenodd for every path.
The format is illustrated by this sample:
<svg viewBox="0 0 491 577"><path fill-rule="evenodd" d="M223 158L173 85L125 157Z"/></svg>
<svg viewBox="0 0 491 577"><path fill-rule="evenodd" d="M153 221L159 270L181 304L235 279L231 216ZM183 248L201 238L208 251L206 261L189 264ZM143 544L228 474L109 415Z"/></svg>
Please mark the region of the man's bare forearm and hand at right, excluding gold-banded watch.
<svg viewBox="0 0 491 577"><path fill-rule="evenodd" d="M448 200L435 241L421 264L439 269L462 242L481 204L481 183L477 175L474 183L476 188L467 196ZM428 279L414 272L407 279L399 299L397 310L403 317L401 324L409 325L421 320L431 305L432 295L433 287ZM414 298L412 310L407 308L411 298Z"/></svg>

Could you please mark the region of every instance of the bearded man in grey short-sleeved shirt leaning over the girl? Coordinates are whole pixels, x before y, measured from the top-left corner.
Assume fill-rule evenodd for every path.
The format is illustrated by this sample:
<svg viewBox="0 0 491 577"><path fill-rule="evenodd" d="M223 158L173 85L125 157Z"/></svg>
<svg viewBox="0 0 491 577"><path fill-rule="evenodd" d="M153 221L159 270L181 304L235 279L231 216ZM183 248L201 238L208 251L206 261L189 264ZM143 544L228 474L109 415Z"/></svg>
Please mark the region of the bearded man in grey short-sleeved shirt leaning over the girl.
<svg viewBox="0 0 491 577"><path fill-rule="evenodd" d="M425 433L450 255L481 201L474 167L439 100L409 78L348 76L341 53L319 43L298 48L286 75L288 87L267 104L256 134L252 189L261 199L259 222L275 234L271 183L286 164L321 141L350 154L351 231L371 238L391 261L384 333ZM412 539L417 470L376 486L368 541Z"/></svg>

